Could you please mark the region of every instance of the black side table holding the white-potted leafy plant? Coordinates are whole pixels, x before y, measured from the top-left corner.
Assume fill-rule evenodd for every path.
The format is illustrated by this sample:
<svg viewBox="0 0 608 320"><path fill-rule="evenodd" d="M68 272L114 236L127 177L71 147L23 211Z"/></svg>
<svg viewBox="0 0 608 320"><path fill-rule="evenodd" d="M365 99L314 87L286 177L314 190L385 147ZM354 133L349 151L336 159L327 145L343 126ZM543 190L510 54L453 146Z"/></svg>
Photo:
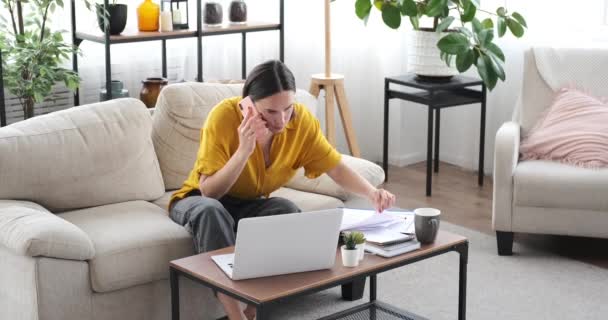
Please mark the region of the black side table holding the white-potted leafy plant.
<svg viewBox="0 0 608 320"><path fill-rule="evenodd" d="M391 89L390 84L419 89L405 92ZM481 90L468 87L481 85ZM387 77L384 79L384 145L382 168L388 179L388 106L390 99L402 99L428 106L428 134L426 153L426 195L431 195L433 161L433 111L435 111L435 172L439 172L439 119L442 108L481 104L481 127L479 135L479 174L478 184L483 186L483 161L486 131L486 87L479 79L457 75L443 82L418 79L415 74Z"/></svg>

